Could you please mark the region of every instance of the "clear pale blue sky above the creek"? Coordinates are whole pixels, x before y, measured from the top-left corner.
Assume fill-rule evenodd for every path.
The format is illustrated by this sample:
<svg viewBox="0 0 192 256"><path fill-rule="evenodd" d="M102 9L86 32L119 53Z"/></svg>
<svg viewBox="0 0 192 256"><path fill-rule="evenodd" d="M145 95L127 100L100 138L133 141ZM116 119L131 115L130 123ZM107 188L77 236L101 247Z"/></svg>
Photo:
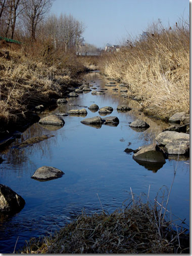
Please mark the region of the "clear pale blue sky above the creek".
<svg viewBox="0 0 192 256"><path fill-rule="evenodd" d="M189 0L55 0L51 13L73 15L85 26L85 42L104 48L141 34L158 19L166 27L188 19Z"/></svg>

